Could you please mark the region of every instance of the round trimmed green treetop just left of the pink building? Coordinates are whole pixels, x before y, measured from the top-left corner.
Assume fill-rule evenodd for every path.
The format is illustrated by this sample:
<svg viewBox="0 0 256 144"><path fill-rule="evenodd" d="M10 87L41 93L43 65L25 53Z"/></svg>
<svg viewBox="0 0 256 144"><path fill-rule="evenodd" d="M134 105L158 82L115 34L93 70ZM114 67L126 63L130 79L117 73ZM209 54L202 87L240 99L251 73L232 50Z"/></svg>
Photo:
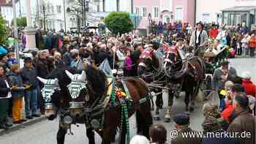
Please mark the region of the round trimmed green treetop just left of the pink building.
<svg viewBox="0 0 256 144"><path fill-rule="evenodd" d="M105 18L105 25L113 34L124 34L133 29L128 12L111 12Z"/></svg>

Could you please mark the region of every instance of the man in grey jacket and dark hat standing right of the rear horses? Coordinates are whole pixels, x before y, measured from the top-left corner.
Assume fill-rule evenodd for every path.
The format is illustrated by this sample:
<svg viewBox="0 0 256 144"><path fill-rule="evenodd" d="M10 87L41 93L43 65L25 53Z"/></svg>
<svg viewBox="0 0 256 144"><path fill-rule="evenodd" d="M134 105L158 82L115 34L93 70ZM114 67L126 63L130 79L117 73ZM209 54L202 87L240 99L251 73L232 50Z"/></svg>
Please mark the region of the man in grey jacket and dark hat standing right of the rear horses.
<svg viewBox="0 0 256 144"><path fill-rule="evenodd" d="M237 76L236 69L229 67L229 61L222 61L221 67L215 69L214 75L211 80L211 88L213 91L218 92L219 95L219 109L222 111L225 108L225 96L220 94L225 89L225 82L233 80Z"/></svg>

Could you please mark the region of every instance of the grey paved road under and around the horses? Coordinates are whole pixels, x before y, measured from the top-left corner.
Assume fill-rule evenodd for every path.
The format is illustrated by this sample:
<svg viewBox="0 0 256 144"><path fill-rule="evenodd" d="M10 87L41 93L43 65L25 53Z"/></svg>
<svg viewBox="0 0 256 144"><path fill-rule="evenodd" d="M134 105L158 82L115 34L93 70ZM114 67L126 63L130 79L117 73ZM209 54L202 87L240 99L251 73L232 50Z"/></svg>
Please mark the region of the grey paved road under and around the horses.
<svg viewBox="0 0 256 144"><path fill-rule="evenodd" d="M248 70L249 72L252 72L252 80L256 82L256 58L244 58L244 59L231 59L230 64L232 67L235 67L238 70L238 74L241 72L244 72L245 70ZM164 102L167 102L167 96L165 96ZM175 99L174 105L173 105L173 114L174 113L181 113L184 112L184 96L181 96L179 99ZM215 101L217 102L217 101ZM166 103L164 107L166 107ZM202 130L200 124L203 122L203 115L201 113L201 106L202 103L197 103L197 108L195 110L195 113L191 114L191 126L193 129ZM161 121L154 121L155 124L164 124L167 128L168 132L171 131L171 129L174 129L174 123L173 121L170 121L170 123L165 123L163 121L164 112L166 111L166 108L164 110L161 110ZM131 128L131 137L135 134L136 128L135 128L135 118L130 119L130 128ZM58 120L54 121L42 121L37 124L27 126L24 129L20 129L18 131L12 132L10 134L5 134L0 136L0 143L3 144L54 144L56 143L56 130L58 128ZM66 144L84 144L88 143L88 140L86 138L86 133L83 125L80 125L79 127L72 126L72 131L74 132L74 135L68 135L66 136L65 143ZM98 135L95 136L97 143L101 142L101 139ZM170 138L168 137L168 140Z"/></svg>

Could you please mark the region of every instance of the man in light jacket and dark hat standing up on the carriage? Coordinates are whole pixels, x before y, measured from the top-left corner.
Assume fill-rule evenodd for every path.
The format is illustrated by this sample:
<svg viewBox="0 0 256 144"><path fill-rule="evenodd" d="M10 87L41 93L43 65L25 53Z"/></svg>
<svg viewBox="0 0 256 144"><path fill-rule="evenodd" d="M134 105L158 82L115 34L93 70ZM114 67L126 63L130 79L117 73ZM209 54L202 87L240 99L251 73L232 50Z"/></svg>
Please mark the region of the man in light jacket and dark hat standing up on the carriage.
<svg viewBox="0 0 256 144"><path fill-rule="evenodd" d="M203 58L204 52L206 50L206 44L208 42L208 35L205 30L203 30L203 23L197 23L197 28L192 32L189 46L194 47L195 56Z"/></svg>

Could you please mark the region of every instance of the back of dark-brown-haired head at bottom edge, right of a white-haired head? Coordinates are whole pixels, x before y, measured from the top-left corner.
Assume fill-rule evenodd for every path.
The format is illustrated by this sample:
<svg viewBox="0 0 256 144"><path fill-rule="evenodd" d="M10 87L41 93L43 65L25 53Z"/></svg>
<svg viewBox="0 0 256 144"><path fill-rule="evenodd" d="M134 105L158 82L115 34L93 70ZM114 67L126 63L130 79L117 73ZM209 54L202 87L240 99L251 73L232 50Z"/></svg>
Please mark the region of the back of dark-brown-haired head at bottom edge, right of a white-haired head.
<svg viewBox="0 0 256 144"><path fill-rule="evenodd" d="M165 144L167 130L162 124L154 124L149 129L150 143Z"/></svg>

